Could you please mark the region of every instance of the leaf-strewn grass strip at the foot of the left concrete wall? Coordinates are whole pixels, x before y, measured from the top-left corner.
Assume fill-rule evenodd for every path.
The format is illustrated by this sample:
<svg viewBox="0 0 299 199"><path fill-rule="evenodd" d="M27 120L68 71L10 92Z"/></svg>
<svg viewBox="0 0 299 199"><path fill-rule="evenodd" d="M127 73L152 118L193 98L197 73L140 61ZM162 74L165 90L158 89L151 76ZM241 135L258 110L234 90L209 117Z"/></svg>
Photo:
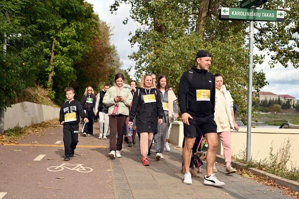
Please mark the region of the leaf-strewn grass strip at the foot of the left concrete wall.
<svg viewBox="0 0 299 199"><path fill-rule="evenodd" d="M58 124L58 119L54 119L23 128L16 126L13 129L7 129L3 134L0 134L0 144L15 143L28 135L41 135L45 128Z"/></svg>

